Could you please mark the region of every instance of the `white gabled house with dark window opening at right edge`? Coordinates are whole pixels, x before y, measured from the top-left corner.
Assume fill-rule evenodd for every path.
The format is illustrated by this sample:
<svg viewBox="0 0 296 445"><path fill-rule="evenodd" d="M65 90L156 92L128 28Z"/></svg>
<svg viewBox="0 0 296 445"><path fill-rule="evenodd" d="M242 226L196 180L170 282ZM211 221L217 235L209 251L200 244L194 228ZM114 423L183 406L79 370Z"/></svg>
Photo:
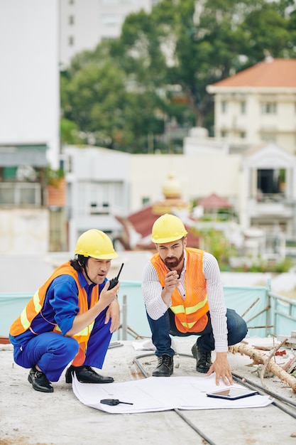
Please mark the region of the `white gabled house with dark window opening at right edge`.
<svg viewBox="0 0 296 445"><path fill-rule="evenodd" d="M264 233L265 256L285 257L286 240L296 239L296 156L265 143L243 156L241 178L242 227Z"/></svg>

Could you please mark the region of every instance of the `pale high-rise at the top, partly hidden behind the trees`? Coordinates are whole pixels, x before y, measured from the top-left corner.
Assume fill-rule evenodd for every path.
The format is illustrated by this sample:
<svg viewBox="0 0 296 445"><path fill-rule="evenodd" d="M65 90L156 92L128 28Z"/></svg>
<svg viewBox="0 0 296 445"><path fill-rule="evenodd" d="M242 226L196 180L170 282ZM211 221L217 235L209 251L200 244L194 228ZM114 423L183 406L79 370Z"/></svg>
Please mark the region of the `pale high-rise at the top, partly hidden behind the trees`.
<svg viewBox="0 0 296 445"><path fill-rule="evenodd" d="M82 50L117 38L124 19L141 9L149 12L153 0L60 0L60 63L69 65Z"/></svg>

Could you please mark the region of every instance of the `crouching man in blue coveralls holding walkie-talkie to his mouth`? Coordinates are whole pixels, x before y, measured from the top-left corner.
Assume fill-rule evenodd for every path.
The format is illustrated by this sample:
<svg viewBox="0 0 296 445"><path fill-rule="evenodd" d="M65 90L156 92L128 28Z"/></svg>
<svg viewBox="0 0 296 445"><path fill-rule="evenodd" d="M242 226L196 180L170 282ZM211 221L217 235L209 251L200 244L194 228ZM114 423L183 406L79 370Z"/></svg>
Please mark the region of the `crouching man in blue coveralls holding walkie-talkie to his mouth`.
<svg viewBox="0 0 296 445"><path fill-rule="evenodd" d="M114 331L119 328L119 283L109 290L106 275L118 257L110 238L100 230L84 232L77 240L75 259L58 267L36 291L11 325L9 340L15 362L31 368L34 390L53 392L66 371L83 383L110 383L99 375Z"/></svg>

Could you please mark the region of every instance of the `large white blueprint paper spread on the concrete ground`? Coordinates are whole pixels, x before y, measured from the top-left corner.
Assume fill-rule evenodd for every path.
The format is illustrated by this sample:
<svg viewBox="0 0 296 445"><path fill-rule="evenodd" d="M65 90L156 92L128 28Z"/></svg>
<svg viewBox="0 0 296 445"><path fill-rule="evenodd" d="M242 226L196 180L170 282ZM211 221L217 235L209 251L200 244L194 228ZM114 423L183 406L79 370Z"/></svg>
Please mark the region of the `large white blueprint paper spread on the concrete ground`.
<svg viewBox="0 0 296 445"><path fill-rule="evenodd" d="M169 409L219 409L266 407L273 402L265 395L252 395L239 400L207 397L206 393L227 388L216 386L214 375L208 377L148 377L129 382L89 384L73 378L76 397L89 407L114 414L166 411ZM241 387L234 384L234 387ZM118 399L132 404L109 406L102 399Z"/></svg>

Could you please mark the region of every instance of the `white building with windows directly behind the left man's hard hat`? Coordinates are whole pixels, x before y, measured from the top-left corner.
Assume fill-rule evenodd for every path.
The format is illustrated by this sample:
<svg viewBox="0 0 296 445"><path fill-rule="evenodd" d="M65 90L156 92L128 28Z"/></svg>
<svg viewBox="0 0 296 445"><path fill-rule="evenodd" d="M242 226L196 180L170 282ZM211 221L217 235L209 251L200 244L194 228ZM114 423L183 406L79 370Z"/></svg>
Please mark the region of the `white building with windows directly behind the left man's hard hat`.
<svg viewBox="0 0 296 445"><path fill-rule="evenodd" d="M91 147L65 147L67 171L67 221L69 247L85 230L97 228L111 238L122 227L115 215L129 210L131 155L121 151Z"/></svg>

